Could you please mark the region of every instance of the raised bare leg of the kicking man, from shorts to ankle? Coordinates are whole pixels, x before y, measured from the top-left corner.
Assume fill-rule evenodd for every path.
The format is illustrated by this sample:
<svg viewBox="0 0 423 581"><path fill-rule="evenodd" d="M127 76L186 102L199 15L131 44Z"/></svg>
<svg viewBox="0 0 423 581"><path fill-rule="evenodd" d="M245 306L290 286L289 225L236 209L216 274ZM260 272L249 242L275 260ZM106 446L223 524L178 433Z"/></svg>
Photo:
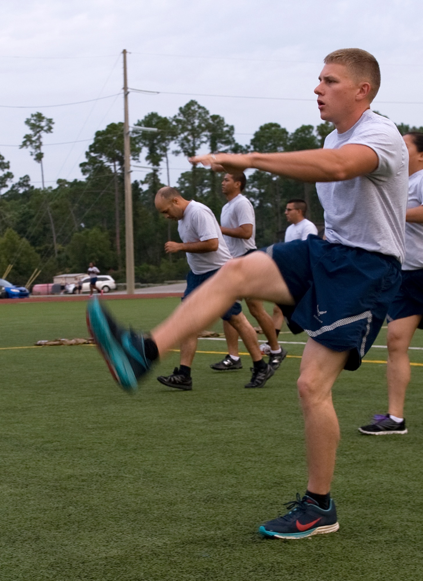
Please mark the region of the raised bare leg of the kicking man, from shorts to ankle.
<svg viewBox="0 0 423 581"><path fill-rule="evenodd" d="M159 354L163 355L190 335L198 335L239 297L294 304L276 263L265 252L230 260L195 289L166 321L153 329Z"/></svg>

